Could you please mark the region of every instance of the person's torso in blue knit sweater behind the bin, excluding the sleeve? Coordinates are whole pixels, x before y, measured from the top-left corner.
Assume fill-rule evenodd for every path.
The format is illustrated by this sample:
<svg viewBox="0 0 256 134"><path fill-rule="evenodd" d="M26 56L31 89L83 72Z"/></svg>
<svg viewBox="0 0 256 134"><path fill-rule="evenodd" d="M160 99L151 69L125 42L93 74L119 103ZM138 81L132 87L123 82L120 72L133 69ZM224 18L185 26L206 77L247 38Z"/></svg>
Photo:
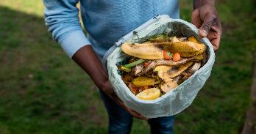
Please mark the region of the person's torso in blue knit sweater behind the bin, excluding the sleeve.
<svg viewBox="0 0 256 134"><path fill-rule="evenodd" d="M177 0L80 0L82 20L99 56L155 15L179 18Z"/></svg>

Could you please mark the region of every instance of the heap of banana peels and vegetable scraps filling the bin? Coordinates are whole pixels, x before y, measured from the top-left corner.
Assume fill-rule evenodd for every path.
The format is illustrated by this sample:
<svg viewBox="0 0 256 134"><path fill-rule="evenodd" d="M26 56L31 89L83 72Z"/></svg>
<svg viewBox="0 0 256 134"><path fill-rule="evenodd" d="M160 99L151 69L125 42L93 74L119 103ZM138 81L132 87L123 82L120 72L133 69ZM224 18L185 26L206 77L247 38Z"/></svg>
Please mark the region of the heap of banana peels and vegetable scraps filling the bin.
<svg viewBox="0 0 256 134"><path fill-rule="evenodd" d="M207 62L205 44L195 37L160 34L146 42L124 42L129 55L118 71L130 91L142 100L154 100L175 89Z"/></svg>

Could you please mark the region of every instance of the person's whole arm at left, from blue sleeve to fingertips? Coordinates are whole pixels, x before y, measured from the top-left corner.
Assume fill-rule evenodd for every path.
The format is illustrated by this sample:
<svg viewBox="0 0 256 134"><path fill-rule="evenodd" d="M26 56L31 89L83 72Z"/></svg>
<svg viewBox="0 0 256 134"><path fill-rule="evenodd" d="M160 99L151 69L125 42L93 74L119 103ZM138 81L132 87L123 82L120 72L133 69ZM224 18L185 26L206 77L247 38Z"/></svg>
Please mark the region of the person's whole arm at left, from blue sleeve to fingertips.
<svg viewBox="0 0 256 134"><path fill-rule="evenodd" d="M49 27L54 40L57 40L68 56L90 75L104 94L107 94L132 116L144 119L139 113L127 108L113 91L102 63L82 32L76 7L78 0L43 0L43 3L46 7L46 26Z"/></svg>

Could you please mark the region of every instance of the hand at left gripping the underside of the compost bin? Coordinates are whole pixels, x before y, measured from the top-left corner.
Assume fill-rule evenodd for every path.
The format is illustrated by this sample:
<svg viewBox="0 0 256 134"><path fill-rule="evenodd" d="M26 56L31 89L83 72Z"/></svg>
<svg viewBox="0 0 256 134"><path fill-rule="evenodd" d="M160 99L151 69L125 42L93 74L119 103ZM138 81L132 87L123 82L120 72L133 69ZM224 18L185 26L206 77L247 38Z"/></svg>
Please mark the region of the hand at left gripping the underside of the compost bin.
<svg viewBox="0 0 256 134"><path fill-rule="evenodd" d="M128 113L130 113L132 116L138 119L146 119L146 117L141 116L140 113L137 113L136 111L133 111L132 109L128 108L126 105L124 105L123 101L115 94L113 91L113 86L111 85L110 81L105 81L102 85L102 88L100 88L104 94L106 94L110 99L112 99L115 103L121 106L121 108L124 108Z"/></svg>

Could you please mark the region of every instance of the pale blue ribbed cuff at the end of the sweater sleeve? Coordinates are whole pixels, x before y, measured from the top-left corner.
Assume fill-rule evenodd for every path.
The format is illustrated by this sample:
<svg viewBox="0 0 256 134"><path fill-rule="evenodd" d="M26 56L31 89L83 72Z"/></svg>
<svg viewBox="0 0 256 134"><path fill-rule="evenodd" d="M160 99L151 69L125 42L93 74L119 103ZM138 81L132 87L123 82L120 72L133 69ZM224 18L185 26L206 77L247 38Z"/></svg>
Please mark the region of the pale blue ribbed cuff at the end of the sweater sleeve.
<svg viewBox="0 0 256 134"><path fill-rule="evenodd" d="M90 42L87 37L85 37L82 30L77 30L71 31L71 33L67 34L65 38L60 41L60 45L65 53L72 58L79 48L82 48L85 45L90 45Z"/></svg>

